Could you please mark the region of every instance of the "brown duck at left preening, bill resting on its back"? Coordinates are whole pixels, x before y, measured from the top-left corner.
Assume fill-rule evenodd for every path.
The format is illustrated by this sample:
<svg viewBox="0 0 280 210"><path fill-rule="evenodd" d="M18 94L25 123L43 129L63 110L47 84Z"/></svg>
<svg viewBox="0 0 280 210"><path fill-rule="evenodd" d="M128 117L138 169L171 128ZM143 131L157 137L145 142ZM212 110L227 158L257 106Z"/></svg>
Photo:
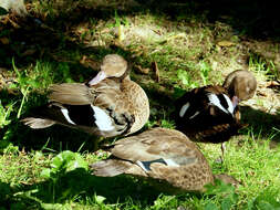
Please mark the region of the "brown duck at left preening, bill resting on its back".
<svg viewBox="0 0 280 210"><path fill-rule="evenodd" d="M133 134L149 117L148 97L131 81L127 61L118 54L107 54L86 83L51 85L49 101L22 122L34 129L60 124L106 138Z"/></svg>

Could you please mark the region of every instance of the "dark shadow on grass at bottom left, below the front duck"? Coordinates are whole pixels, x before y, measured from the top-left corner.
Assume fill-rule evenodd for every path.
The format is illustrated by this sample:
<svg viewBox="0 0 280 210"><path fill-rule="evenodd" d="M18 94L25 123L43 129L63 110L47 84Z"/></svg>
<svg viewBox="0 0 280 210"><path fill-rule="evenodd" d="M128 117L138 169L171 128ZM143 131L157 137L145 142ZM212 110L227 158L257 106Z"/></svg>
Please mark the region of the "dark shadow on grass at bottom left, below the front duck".
<svg viewBox="0 0 280 210"><path fill-rule="evenodd" d="M143 208L153 204L160 192L135 178L118 176L102 178L90 175L85 169L77 168L54 179L48 179L32 186L10 188L0 182L3 207L19 203L25 207L40 207L42 203L64 203L65 201L84 201L97 204L96 196L106 198L104 203L125 203L127 201L141 204ZM9 202L7 202L9 201ZM0 200L1 203L1 200Z"/></svg>

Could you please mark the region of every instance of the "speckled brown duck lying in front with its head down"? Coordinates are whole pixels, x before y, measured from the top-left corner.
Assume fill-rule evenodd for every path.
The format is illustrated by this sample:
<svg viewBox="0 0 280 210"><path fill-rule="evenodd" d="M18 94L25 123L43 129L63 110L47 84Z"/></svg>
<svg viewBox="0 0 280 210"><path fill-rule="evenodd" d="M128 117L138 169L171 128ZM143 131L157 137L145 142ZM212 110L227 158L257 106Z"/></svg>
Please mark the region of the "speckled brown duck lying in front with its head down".
<svg viewBox="0 0 280 210"><path fill-rule="evenodd" d="M214 175L197 145L176 129L152 128L103 149L111 156L90 165L92 175L97 177L129 175L173 193L204 192L205 186L214 185L216 178L238 185L231 176Z"/></svg>

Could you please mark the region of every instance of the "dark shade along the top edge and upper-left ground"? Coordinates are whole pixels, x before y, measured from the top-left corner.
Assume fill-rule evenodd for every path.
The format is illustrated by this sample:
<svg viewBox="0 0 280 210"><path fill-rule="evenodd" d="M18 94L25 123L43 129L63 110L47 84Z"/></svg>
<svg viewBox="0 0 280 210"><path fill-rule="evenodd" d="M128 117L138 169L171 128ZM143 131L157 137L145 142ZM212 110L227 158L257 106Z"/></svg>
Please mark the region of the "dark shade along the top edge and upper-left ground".
<svg viewBox="0 0 280 210"><path fill-rule="evenodd" d="M89 51L89 48L80 40L76 34L71 30L76 28L80 23L93 22L96 20L112 20L116 21L116 13L118 17L134 15L138 13L153 13L155 17L166 17L166 20L172 21L174 27L177 27L180 21L185 21L185 27L191 28L191 24L197 23L215 23L216 21L231 24L236 29L236 34L248 34L253 39L274 39L279 41L279 25L277 8L272 1L146 1L138 0L138 3L96 3L82 4L71 9L72 1L60 1L58 14L44 18L43 21L50 28L42 28L37 21L31 19L24 22L20 28L13 27L6 36L10 39L10 44L1 44L0 42L0 56L4 57L0 61L0 65L10 65L11 59L14 57L17 63L22 65L35 62L38 59L53 61L55 55L61 51L70 51L72 53L87 52L96 53L97 56L103 56L110 51L106 48L96 48L95 51ZM54 6L50 6L54 7ZM230 9L229 9L230 8ZM41 14L33 14L34 17ZM38 17L40 18L40 17ZM163 24L163 23L162 23ZM217 32L220 33L220 32ZM19 35L20 34L20 35ZM72 36L72 39L69 39ZM73 40L73 41L72 41ZM28 56L32 50L32 56ZM93 49L93 48L91 48ZM35 53L34 53L35 52ZM71 61L71 59L69 59ZM56 60L58 62L58 60ZM79 65L73 66L79 67Z"/></svg>

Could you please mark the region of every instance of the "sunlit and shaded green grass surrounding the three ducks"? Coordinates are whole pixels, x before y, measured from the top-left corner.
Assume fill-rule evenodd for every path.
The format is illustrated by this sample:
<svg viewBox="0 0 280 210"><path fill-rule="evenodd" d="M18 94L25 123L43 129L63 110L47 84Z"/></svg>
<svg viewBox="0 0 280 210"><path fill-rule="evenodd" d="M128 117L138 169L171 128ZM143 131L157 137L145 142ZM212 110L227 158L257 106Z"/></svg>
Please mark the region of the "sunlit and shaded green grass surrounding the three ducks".
<svg viewBox="0 0 280 210"><path fill-rule="evenodd" d="M210 22L209 11L196 1L157 8L132 1L63 2L31 1L30 12L43 21L42 28L0 22L0 210L280 209L280 97L277 86L265 85L279 78L277 39L245 39L252 30L235 32L232 22L240 20ZM232 44L220 46L220 41ZM214 174L236 177L242 182L238 189L217 183L205 195L173 196L132 177L97 178L89 164L108 154L93 153L95 137L61 126L31 130L20 123L32 107L45 104L50 84L89 80L107 53L143 69L158 65L160 82L152 70L132 72L151 99L151 117L142 130L173 128L170 98L185 90L221 84L238 69L255 73L258 94L241 104L249 127L227 143L224 165L215 161L219 145L199 144Z"/></svg>

